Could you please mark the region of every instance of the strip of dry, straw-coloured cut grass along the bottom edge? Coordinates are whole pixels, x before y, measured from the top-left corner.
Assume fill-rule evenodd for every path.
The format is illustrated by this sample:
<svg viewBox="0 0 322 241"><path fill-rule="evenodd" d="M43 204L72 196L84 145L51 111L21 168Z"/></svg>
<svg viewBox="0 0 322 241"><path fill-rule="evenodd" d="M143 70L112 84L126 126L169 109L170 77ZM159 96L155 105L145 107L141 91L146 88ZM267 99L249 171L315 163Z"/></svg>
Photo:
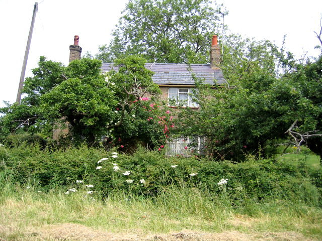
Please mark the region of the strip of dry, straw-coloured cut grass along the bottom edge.
<svg viewBox="0 0 322 241"><path fill-rule="evenodd" d="M10 233L14 230L11 226L0 225L2 232L6 232L10 238ZM253 241L253 240L274 240L274 241L310 241L317 240L304 237L296 232L251 232L241 233L239 231L227 231L221 233L195 232L192 230L182 230L180 232L170 232L162 234L142 234L142 233L110 233L95 230L81 224L64 223L57 225L46 225L41 228L26 228L21 231L19 240L82 240L82 241L136 241L136 240L160 240L160 241ZM0 240L7 240L0 238ZM8 240L12 240L11 238Z"/></svg>

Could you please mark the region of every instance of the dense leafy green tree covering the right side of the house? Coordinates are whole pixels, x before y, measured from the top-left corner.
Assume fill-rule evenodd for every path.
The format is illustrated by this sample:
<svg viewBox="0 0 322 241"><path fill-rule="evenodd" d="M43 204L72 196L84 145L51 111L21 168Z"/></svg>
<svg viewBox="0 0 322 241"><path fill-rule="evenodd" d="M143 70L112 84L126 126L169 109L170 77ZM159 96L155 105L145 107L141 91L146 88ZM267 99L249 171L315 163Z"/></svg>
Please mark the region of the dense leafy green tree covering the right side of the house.
<svg viewBox="0 0 322 241"><path fill-rule="evenodd" d="M221 63L226 84L207 86L196 80L200 108L180 110L178 135L207 137L209 153L241 161L245 153L275 154L296 120L294 131L321 134L321 58L296 64L290 53L268 41L239 39L226 50L230 54ZM320 154L318 140L308 138L302 145Z"/></svg>

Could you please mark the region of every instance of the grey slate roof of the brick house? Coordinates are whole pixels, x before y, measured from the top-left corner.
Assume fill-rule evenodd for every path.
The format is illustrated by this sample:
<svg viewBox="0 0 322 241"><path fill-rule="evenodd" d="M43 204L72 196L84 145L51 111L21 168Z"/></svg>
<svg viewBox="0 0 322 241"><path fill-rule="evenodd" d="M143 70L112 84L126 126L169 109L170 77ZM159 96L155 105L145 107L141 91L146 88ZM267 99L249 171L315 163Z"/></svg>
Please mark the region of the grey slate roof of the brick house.
<svg viewBox="0 0 322 241"><path fill-rule="evenodd" d="M103 63L102 70L104 72L112 69L113 63ZM146 63L145 68L154 72L152 80L155 84L173 84L173 85L194 85L195 82L191 77L191 73L187 70L186 64L160 64ZM197 78L203 78L205 83L222 84L223 75L220 69L211 69L210 64L192 64L192 71ZM117 70L117 68L113 67Z"/></svg>

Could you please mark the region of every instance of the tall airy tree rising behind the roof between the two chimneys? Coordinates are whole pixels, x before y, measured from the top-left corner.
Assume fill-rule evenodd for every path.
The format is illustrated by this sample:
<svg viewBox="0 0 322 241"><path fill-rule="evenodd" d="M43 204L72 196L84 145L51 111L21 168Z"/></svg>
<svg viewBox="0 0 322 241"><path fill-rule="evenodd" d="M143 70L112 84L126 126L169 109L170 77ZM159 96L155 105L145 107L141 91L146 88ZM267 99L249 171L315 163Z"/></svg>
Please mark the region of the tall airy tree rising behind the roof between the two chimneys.
<svg viewBox="0 0 322 241"><path fill-rule="evenodd" d="M220 7L210 0L130 0L109 46L96 57L113 62L141 54L149 62L207 63L209 43L219 27Z"/></svg>

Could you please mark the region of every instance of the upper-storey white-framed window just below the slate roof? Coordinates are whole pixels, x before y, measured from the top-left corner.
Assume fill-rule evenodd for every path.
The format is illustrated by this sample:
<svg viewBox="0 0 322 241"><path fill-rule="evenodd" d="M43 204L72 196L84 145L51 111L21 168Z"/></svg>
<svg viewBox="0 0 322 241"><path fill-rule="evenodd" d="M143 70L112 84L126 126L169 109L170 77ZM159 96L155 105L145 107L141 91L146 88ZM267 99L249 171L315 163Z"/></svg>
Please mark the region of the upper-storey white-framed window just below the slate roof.
<svg viewBox="0 0 322 241"><path fill-rule="evenodd" d="M178 105L179 102L183 102L184 106L199 107L196 102L193 102L192 95L192 88L169 88L169 100L174 99L176 105Z"/></svg>

